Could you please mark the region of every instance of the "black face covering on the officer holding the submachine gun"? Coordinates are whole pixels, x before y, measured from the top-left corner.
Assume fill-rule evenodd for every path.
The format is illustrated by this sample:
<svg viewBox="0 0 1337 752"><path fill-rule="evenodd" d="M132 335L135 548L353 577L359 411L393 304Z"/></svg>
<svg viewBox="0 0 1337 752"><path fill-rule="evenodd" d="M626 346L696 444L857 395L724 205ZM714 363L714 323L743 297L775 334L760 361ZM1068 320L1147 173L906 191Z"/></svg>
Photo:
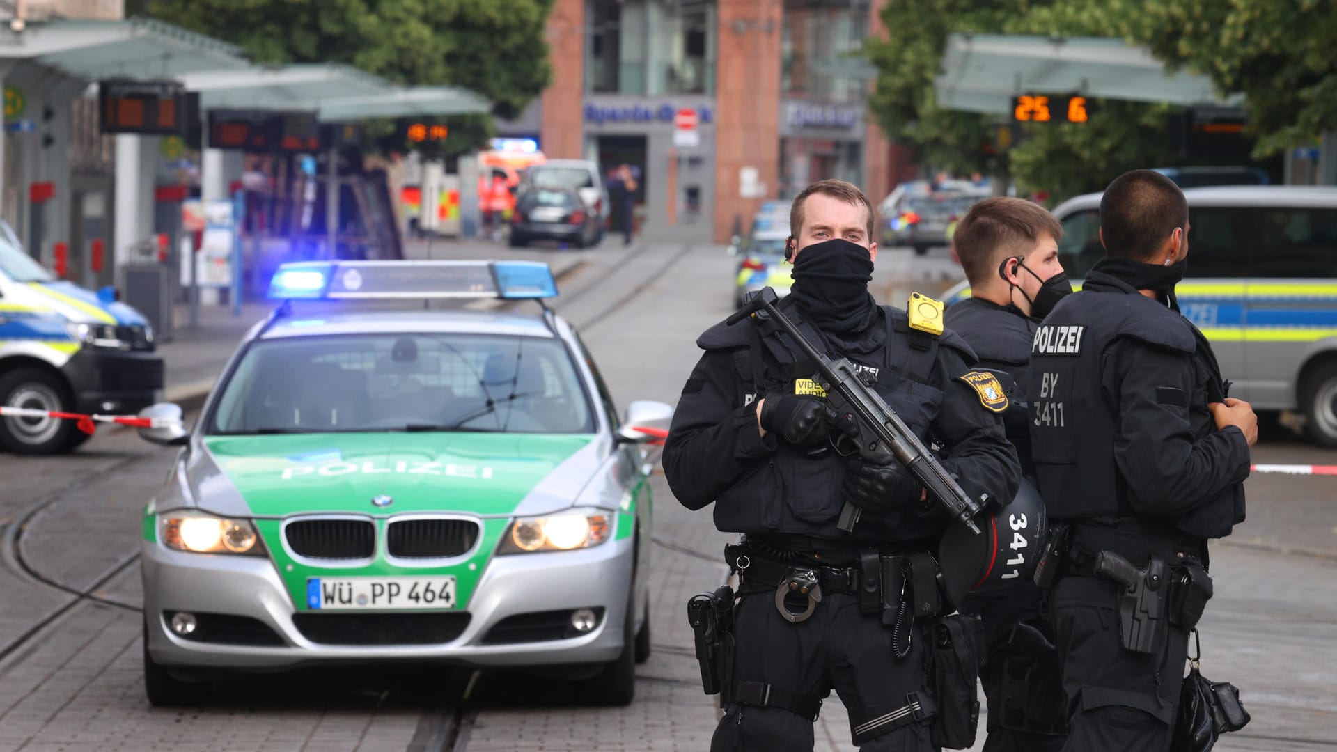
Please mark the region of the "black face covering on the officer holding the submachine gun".
<svg viewBox="0 0 1337 752"><path fill-rule="evenodd" d="M842 238L813 244L794 261L789 294L817 326L850 332L868 325L876 309L868 282L873 260L868 249Z"/></svg>

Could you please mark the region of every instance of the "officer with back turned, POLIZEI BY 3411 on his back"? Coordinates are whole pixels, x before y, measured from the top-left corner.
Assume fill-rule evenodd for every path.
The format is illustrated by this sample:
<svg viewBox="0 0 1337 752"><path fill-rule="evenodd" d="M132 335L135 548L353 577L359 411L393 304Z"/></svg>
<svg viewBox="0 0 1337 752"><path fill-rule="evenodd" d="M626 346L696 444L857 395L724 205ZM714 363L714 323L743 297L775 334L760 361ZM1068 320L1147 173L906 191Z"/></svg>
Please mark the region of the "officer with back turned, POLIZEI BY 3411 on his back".
<svg viewBox="0 0 1337 752"><path fill-rule="evenodd" d="M1067 751L1169 749L1211 595L1207 539L1245 518L1257 416L1179 313L1187 238L1178 186L1120 175L1100 199L1106 257L1035 335L1031 450L1051 521L1068 525L1066 558L1042 565L1058 577Z"/></svg>

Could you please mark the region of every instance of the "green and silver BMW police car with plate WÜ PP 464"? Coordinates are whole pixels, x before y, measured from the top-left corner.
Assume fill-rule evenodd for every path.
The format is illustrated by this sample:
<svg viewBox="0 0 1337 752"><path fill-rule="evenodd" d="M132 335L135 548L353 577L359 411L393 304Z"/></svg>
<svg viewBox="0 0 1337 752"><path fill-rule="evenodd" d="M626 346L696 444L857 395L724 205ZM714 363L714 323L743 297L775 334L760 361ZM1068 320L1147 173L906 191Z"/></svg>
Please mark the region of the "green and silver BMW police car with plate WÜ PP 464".
<svg viewBox="0 0 1337 752"><path fill-rule="evenodd" d="M545 264L283 265L143 516L151 702L218 672L443 662L545 669L626 704L648 657L646 442L576 332L431 298L556 294ZM408 306L386 305L390 301ZM473 302L473 308L497 304ZM532 305L532 304L524 304Z"/></svg>

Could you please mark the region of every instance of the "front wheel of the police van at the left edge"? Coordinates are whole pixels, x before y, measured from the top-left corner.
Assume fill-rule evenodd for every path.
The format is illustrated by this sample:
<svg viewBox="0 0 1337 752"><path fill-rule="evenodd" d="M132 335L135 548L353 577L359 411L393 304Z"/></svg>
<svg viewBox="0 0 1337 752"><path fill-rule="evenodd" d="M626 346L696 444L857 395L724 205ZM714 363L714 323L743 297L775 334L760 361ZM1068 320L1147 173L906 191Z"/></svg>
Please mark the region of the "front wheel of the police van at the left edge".
<svg viewBox="0 0 1337 752"><path fill-rule="evenodd" d="M41 368L16 368L0 376L0 404L72 412L74 397L59 376ZM0 444L16 455L51 455L74 447L79 428L60 417L3 417Z"/></svg>

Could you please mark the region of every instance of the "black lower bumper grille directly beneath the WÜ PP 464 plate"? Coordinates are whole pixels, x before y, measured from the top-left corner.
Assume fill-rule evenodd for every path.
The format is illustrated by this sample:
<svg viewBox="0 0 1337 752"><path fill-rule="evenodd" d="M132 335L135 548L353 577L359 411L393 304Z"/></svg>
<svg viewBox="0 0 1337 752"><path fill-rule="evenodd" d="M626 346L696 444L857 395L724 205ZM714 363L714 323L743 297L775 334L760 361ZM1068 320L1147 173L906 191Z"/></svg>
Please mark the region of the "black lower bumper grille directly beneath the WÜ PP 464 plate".
<svg viewBox="0 0 1337 752"><path fill-rule="evenodd" d="M293 614L302 637L325 645L439 645L469 626L467 612L440 614Z"/></svg>

